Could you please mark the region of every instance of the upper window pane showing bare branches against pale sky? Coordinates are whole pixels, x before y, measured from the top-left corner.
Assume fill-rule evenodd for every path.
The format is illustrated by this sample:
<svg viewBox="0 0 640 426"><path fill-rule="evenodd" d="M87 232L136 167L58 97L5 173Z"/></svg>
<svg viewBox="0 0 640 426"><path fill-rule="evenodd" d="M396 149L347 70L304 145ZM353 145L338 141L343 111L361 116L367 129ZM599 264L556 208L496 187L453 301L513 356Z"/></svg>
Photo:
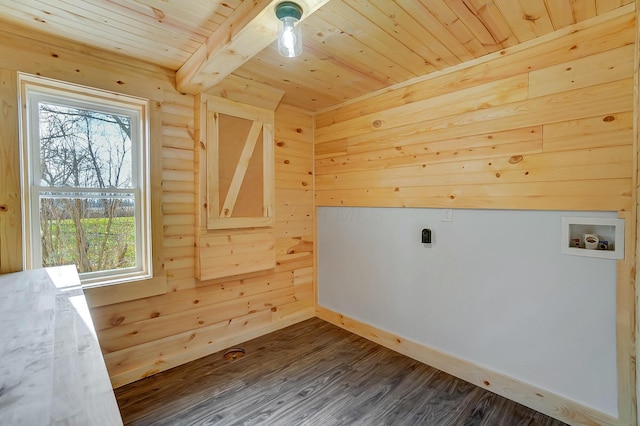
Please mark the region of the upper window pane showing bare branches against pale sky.
<svg viewBox="0 0 640 426"><path fill-rule="evenodd" d="M40 185L132 188L132 117L40 102Z"/></svg>

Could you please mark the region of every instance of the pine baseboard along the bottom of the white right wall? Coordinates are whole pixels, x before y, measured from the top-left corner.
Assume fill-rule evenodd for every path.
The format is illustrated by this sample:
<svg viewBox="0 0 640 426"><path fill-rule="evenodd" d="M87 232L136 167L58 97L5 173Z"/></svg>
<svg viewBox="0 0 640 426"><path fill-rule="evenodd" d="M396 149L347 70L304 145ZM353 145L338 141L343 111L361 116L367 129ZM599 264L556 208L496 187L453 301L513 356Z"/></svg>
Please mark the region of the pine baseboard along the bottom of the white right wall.
<svg viewBox="0 0 640 426"><path fill-rule="evenodd" d="M479 365L316 306L316 316L384 347L570 425L628 426L620 419Z"/></svg>

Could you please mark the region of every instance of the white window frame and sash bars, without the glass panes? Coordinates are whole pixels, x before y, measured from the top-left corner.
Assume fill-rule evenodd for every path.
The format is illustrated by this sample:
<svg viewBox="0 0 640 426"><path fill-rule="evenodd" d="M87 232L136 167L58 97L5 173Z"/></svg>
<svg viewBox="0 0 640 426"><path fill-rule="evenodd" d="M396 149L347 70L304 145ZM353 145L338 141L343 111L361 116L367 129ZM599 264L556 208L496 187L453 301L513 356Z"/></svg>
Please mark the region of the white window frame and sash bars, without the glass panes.
<svg viewBox="0 0 640 426"><path fill-rule="evenodd" d="M135 200L136 266L80 274L84 287L120 284L153 277L151 235L151 168L149 100L101 89L19 73L23 261L26 269L42 267L40 196L42 193L132 194ZM40 130L38 101L131 116L132 185L130 189L45 187L39 182ZM56 102L57 101L57 102ZM35 136L34 136L35 135ZM38 182L35 182L38 180ZM38 183L38 185L36 185Z"/></svg>

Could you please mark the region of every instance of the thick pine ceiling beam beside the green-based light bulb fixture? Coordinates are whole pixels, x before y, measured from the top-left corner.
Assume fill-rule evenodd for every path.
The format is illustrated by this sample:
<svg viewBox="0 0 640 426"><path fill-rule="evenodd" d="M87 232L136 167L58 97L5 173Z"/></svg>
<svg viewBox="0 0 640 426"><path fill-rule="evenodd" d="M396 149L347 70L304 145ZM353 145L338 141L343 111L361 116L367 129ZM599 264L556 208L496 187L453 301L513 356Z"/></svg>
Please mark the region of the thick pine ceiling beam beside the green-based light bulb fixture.
<svg viewBox="0 0 640 426"><path fill-rule="evenodd" d="M243 1L176 73L180 92L205 92L273 43L278 35L275 7L282 0ZM301 21L329 0L296 0Z"/></svg>

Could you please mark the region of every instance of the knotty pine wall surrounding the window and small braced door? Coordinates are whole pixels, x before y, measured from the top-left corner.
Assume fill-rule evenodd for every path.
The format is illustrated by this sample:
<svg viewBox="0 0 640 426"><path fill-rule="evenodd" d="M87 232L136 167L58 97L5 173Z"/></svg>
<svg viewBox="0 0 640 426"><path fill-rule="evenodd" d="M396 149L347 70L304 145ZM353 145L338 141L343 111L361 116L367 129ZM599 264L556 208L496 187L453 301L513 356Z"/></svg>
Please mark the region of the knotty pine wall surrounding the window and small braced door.
<svg viewBox="0 0 640 426"><path fill-rule="evenodd" d="M16 245L20 251L16 71L152 100L151 156L161 167L155 172L162 184L156 182L159 190L152 194L160 220L154 239L161 233L154 257L166 283L159 279L86 292L114 386L314 316L310 114L286 106L276 111L276 268L199 282L194 278L193 97L175 91L170 71L35 33L18 36L19 32L0 31L0 204L8 206L0 216L3 272L22 269L15 254ZM146 294L155 295L143 297Z"/></svg>

